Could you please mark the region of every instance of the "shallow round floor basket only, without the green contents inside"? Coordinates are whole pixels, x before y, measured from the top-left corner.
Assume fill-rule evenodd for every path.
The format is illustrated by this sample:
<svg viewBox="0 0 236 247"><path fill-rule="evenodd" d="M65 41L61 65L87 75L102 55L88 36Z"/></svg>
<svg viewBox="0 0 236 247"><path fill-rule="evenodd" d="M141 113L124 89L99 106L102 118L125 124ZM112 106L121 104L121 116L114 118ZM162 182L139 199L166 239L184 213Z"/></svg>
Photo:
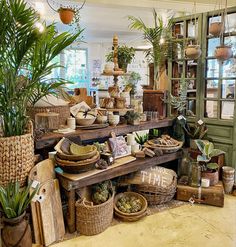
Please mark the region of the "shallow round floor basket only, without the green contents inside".
<svg viewBox="0 0 236 247"><path fill-rule="evenodd" d="M131 197L131 196L134 196L138 199L140 199L141 203L142 203L142 209L138 212L135 212L135 213L124 213L122 211L120 211L118 209L118 207L116 206L118 200L123 197L123 196L128 196L128 197ZM122 216L122 217L128 217L128 218L132 218L134 216L140 216L140 215L145 215L144 213L146 212L147 210L147 206L148 206L148 203L147 203L147 200L144 196L140 195L139 193L136 193L136 192L124 192L124 193L119 193L115 196L115 199L114 199L114 210L115 210L115 214L119 217L119 216ZM138 219L137 219L138 220Z"/></svg>

